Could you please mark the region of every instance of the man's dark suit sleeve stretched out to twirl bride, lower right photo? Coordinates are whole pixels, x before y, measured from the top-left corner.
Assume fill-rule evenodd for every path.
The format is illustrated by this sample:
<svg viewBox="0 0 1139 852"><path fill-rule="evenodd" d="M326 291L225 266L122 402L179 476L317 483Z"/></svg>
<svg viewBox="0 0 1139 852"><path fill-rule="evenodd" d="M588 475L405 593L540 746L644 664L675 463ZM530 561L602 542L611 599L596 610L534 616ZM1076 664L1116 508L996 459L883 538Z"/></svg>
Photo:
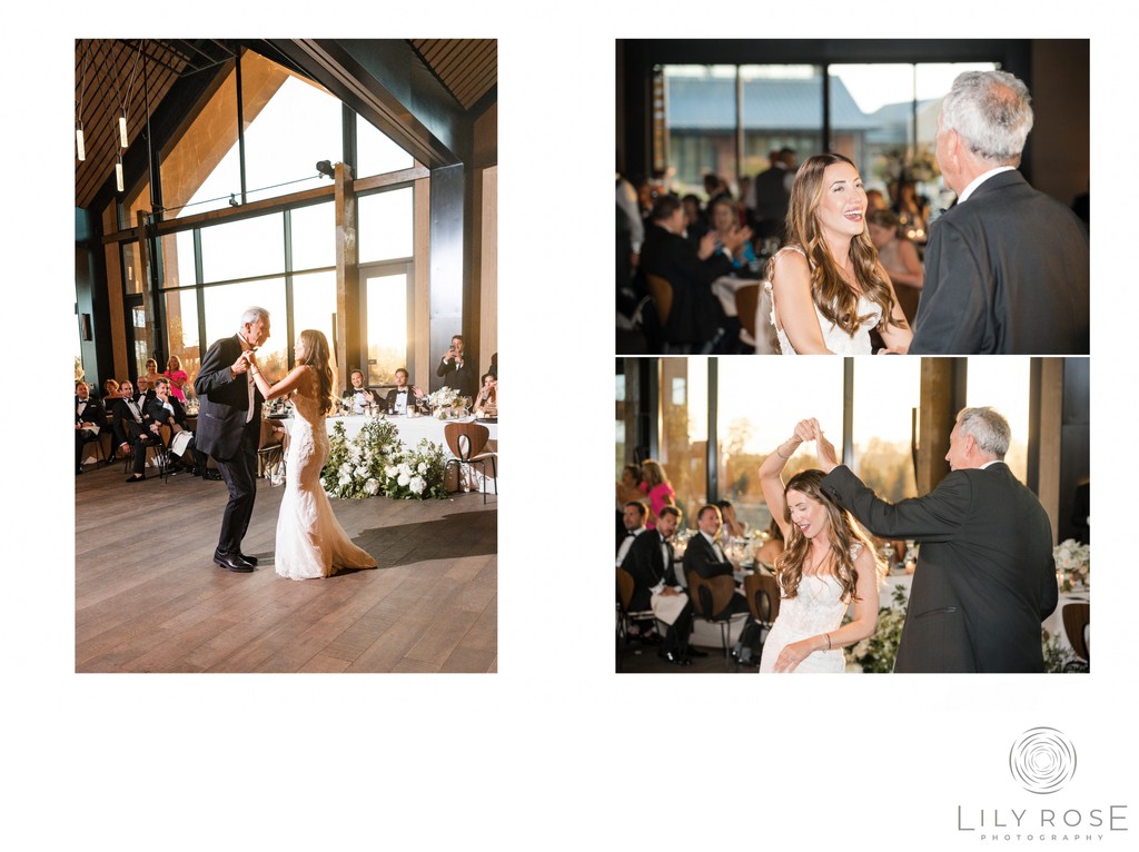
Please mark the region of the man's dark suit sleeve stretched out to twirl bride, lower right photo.
<svg viewBox="0 0 1139 852"><path fill-rule="evenodd" d="M925 497L898 503L879 500L845 465L827 474L822 490L867 530L887 539L947 541L960 530L973 500L973 486L960 472L951 473Z"/></svg>

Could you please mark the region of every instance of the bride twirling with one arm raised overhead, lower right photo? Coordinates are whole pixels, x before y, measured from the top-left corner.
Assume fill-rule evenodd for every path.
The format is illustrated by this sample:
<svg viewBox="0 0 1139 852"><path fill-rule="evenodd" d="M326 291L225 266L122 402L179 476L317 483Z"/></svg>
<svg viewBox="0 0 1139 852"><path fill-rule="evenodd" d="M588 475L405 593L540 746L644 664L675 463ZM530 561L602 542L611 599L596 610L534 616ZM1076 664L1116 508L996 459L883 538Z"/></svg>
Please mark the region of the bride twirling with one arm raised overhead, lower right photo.
<svg viewBox="0 0 1139 852"><path fill-rule="evenodd" d="M787 460L812 440L826 441L818 421L801 420L760 466L763 497L787 542L776 559L779 616L763 644L761 672L843 672L842 648L878 624L883 566L867 534L822 491L821 470L803 470L784 488ZM851 601L853 618L843 624Z"/></svg>

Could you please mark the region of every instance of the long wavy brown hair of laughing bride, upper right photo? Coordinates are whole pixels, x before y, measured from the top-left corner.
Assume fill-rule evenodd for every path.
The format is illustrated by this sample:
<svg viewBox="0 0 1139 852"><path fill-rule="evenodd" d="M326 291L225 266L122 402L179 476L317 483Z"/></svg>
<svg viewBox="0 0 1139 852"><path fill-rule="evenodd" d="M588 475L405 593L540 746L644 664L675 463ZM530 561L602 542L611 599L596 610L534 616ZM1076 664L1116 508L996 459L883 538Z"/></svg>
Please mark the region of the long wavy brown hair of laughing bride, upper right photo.
<svg viewBox="0 0 1139 852"><path fill-rule="evenodd" d="M859 316L859 296L838 275L838 268L827 248L817 215L819 200L825 190L822 173L827 166L836 163L847 163L858 171L853 161L842 154L817 154L803 163L796 172L787 207L786 245L797 245L806 254L811 267L811 296L819 308L819 313L853 337L870 317ZM894 298L890 293L890 286L882 277L878 249L874 247L866 228L851 238L850 259L854 264L854 279L858 286L868 300L882 306L883 325L904 325L894 320ZM773 271L775 257L768 261L769 281Z"/></svg>

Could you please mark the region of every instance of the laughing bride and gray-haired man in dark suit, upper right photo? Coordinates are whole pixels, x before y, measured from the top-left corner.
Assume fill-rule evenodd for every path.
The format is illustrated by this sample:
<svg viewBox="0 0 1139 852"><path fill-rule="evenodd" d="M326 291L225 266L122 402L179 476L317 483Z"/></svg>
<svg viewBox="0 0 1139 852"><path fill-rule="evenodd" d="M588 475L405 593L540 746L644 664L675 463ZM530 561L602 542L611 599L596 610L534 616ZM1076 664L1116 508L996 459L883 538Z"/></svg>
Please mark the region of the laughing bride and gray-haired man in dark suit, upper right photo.
<svg viewBox="0 0 1139 852"><path fill-rule="evenodd" d="M854 163L808 159L792 187L787 245L765 276L780 351L869 354L877 329L884 353L1085 354L1088 234L1016 170L1032 122L1029 90L1011 74L953 81L936 157L957 203L929 231L912 331L867 232Z"/></svg>

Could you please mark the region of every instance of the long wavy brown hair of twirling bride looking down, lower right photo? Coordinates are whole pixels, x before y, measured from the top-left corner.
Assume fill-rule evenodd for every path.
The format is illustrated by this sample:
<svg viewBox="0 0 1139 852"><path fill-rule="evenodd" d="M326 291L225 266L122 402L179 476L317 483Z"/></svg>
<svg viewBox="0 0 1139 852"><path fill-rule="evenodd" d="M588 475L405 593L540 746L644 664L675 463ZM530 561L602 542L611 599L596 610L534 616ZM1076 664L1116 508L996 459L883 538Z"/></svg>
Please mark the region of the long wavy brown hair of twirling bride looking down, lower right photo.
<svg viewBox="0 0 1139 852"><path fill-rule="evenodd" d="M822 503L827 510L827 542L830 556L835 563L835 576L843 588L843 600L847 604L859 600L858 597L858 570L854 567L854 557L851 549L855 543L861 543L868 548L874 556L875 571L880 575L885 566L878 558L877 551L870 536L866 534L854 517L831 500L822 490L822 470L803 470L795 474L784 489L784 497L788 491L797 491L814 502ZM784 509L784 517L790 527L788 530L787 542L784 551L776 558L776 577L784 590L784 597L794 598L798 593L798 583L803 579L803 566L806 565L806 557L811 551L811 541L796 524L790 523L790 506Z"/></svg>

